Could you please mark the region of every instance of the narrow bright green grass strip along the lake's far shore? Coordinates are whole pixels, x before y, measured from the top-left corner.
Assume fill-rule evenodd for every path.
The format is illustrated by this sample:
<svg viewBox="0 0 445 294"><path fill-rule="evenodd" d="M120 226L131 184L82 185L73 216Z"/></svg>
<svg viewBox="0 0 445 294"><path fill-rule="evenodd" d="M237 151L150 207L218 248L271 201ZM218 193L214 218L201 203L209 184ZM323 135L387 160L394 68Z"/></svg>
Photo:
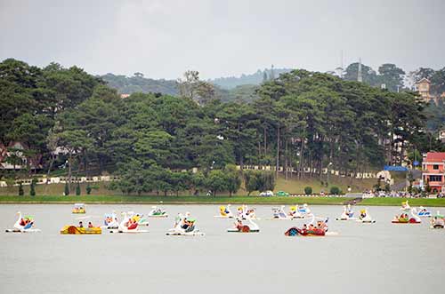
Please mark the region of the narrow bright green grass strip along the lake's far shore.
<svg viewBox="0 0 445 294"><path fill-rule="evenodd" d="M177 204L302 204L343 205L351 198L345 197L257 197L257 196L125 196L125 195L88 195L88 196L0 196L0 203L177 203ZM400 206L402 198L364 199L360 205ZM409 199L411 206L445 206L445 199Z"/></svg>

